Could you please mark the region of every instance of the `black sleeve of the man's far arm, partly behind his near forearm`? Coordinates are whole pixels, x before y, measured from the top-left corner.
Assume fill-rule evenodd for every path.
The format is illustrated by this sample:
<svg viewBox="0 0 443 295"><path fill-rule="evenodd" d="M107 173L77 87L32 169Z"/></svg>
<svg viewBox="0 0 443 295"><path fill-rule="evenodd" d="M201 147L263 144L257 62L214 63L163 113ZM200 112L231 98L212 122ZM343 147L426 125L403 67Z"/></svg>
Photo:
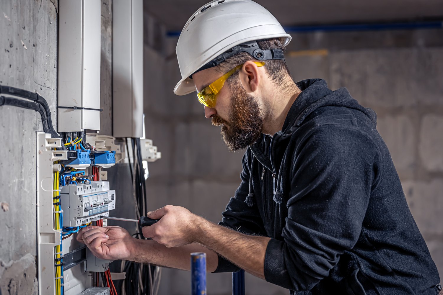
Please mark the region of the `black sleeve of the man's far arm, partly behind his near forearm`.
<svg viewBox="0 0 443 295"><path fill-rule="evenodd" d="M222 213L223 219L218 224L243 234L265 235L266 232L256 202L253 202L252 206L248 206L246 203L246 197L249 194L251 161L252 153L248 149L242 160L241 184L235 191L234 197L229 200L226 210ZM238 270L240 268L236 265L219 256L218 267L214 272L237 272Z"/></svg>

